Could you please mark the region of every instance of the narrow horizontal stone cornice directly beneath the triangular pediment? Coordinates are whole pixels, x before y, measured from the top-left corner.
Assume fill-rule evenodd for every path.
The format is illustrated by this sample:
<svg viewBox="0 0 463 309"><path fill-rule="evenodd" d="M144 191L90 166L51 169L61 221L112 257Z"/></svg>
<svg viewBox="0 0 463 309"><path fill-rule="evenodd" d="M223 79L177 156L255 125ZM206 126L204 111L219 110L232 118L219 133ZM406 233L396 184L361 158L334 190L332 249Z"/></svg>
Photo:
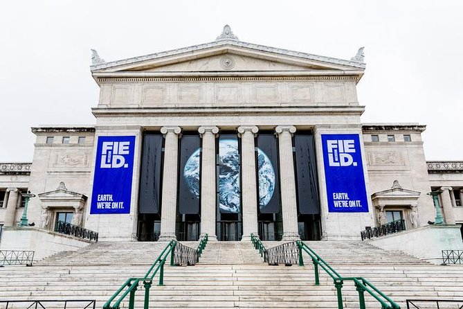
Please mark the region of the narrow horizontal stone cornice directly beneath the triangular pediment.
<svg viewBox="0 0 463 309"><path fill-rule="evenodd" d="M352 75L340 75L339 72L329 75L327 72L317 72L314 76L307 76L307 73L301 73L301 76L268 76L269 72L264 72L264 74L259 74L258 76L249 76L250 73L230 73L230 76L197 76L197 73L192 76L188 76L188 72L182 72L181 76L178 76L179 73L174 73L174 76L146 76L145 72L143 73L130 73L128 76L114 76L114 73L111 73L111 76L96 76L98 82L210 82L210 81L300 81L300 80L358 80L356 76ZM244 76L237 76L243 74ZM279 73L281 74L281 72ZM231 76L233 75L233 76ZM267 75L267 76L262 76Z"/></svg>

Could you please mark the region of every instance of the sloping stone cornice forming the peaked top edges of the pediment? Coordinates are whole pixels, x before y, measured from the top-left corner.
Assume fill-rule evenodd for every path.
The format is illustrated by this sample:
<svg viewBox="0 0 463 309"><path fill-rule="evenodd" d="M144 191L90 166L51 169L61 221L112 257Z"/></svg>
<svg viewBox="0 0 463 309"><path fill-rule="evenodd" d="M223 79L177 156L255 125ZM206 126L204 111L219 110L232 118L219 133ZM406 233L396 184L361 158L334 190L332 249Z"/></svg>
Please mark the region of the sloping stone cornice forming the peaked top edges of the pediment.
<svg viewBox="0 0 463 309"><path fill-rule="evenodd" d="M111 69L111 68L129 65L129 64L136 64L138 62L145 62L149 60L167 58L167 57L172 57L176 55L183 55L183 54L188 55L196 51L201 51L201 50L206 50L206 49L213 49L213 48L219 48L219 47L226 48L227 46L230 48L244 48L250 51L265 52L265 53L271 53L275 55L300 58L302 60L312 60L315 62L320 62L320 64L327 63L327 64L336 64L336 65L342 65L346 67L352 67L356 69L365 69L365 63L361 63L361 62L356 62L352 60L342 60L338 58L325 57L325 56L320 56L320 55L313 55L310 53L302 53L298 51L289 51L283 48L275 48L271 46L265 46L265 45L247 43L247 42L239 42L239 41L236 41L235 39L223 39L218 42L209 42L205 44L193 45L193 46L188 46L184 48L177 48L171 51L163 51L160 53L152 53L152 54L143 55L140 57L128 58L125 60L118 60L118 61L113 61L113 62L95 64L95 65L91 65L90 69L92 72L98 71L98 70L104 70L104 69Z"/></svg>

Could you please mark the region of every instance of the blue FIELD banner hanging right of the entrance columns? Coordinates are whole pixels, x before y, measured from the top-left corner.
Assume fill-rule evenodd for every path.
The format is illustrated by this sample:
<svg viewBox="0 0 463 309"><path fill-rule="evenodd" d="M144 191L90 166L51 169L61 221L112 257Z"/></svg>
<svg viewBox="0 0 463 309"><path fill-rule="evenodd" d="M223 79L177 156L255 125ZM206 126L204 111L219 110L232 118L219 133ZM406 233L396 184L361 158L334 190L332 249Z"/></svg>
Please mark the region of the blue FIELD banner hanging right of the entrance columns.
<svg viewBox="0 0 463 309"><path fill-rule="evenodd" d="M322 134L328 211L368 212L358 134Z"/></svg>

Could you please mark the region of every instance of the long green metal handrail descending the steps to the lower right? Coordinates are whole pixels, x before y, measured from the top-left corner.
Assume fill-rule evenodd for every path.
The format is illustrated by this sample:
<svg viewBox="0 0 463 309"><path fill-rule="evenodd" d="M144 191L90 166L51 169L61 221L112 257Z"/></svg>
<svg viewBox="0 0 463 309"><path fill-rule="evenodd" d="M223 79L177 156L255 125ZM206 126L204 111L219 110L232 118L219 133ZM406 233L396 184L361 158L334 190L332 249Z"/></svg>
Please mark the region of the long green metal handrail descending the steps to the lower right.
<svg viewBox="0 0 463 309"><path fill-rule="evenodd" d="M343 309L343 295L341 289L343 288L344 281L354 281L355 288L358 292L358 302L360 303L360 309L365 309L365 295L367 292L374 299L381 303L381 309L400 309L400 306L397 305L392 299L386 296L378 288L376 288L372 283L367 281L363 277L343 277L336 270L333 269L328 263L323 261L323 258L320 258L314 250L307 246L302 241L296 242L299 249L299 265L304 265L304 259L302 258L302 251L305 251L311 258L312 263L314 263L314 272L315 272L315 285L320 285L320 279L318 276L318 266L320 266L325 272L332 277L334 281L334 287L336 288L337 297L338 297L338 309Z"/></svg>

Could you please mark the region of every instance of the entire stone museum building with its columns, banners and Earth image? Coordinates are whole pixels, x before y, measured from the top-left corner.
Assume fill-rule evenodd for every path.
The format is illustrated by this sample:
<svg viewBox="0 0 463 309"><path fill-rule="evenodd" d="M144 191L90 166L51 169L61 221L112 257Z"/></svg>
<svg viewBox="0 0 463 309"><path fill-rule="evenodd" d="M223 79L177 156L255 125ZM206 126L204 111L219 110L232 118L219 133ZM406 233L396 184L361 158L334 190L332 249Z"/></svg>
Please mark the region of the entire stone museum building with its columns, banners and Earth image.
<svg viewBox="0 0 463 309"><path fill-rule="evenodd" d="M416 123L361 123L350 60L214 42L105 62L95 125L33 127L32 163L0 164L0 227L69 222L100 240L323 240L463 224L463 162L428 161ZM463 229L463 228L462 228ZM462 230L463 233L463 230Z"/></svg>

